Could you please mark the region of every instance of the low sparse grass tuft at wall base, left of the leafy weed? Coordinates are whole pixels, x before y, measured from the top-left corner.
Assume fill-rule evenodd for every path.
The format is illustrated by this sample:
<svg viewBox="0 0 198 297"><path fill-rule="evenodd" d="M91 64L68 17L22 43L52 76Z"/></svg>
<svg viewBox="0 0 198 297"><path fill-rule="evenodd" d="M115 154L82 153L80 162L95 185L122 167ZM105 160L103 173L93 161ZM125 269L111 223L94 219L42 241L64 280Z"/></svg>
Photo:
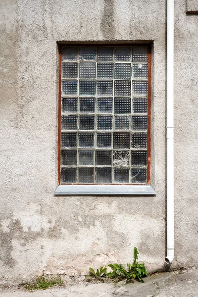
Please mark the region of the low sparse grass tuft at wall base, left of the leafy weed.
<svg viewBox="0 0 198 297"><path fill-rule="evenodd" d="M62 286L63 281L60 275L48 276L44 272L41 276L35 277L32 282L25 284L26 291L46 290L54 286Z"/></svg>

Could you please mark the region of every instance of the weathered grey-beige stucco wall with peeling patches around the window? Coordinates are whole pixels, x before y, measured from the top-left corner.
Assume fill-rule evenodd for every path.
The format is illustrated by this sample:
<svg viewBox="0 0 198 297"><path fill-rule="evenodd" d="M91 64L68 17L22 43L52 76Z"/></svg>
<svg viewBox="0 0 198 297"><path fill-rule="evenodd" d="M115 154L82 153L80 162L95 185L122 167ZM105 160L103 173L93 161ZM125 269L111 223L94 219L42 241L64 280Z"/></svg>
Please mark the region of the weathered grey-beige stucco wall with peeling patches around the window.
<svg viewBox="0 0 198 297"><path fill-rule="evenodd" d="M0 275L85 274L132 261L164 267L164 0L0 0ZM198 16L175 1L175 260L198 267ZM56 41L153 41L152 184L156 197L54 197Z"/></svg>

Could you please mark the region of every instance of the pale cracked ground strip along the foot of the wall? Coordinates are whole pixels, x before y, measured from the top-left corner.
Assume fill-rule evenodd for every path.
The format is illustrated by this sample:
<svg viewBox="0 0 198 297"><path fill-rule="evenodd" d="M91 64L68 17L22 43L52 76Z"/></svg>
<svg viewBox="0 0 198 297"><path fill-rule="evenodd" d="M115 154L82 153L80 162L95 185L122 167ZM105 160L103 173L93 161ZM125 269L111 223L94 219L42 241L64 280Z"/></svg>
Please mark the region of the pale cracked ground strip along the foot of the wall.
<svg viewBox="0 0 198 297"><path fill-rule="evenodd" d="M122 282L64 284L36 292L24 291L23 286L1 285L1 297L197 297L198 269L156 273L145 278L145 283Z"/></svg>

